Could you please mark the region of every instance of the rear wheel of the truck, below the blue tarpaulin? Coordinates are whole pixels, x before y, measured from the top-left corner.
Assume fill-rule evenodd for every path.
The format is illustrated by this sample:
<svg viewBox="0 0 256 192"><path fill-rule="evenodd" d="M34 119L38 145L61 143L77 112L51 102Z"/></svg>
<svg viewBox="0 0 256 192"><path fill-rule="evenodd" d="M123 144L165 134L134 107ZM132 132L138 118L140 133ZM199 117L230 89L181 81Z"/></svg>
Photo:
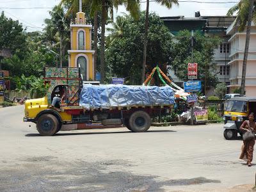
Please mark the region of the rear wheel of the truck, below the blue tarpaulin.
<svg viewBox="0 0 256 192"><path fill-rule="evenodd" d="M129 118L129 126L133 132L145 132L151 125L151 118L145 111L135 111Z"/></svg>

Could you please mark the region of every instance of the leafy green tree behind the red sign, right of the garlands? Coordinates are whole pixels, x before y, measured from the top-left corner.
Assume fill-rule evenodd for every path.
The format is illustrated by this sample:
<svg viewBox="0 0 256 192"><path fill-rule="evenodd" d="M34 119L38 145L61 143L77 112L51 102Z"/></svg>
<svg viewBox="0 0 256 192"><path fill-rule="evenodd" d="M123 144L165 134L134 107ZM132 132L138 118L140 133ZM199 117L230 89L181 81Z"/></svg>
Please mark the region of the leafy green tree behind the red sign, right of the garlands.
<svg viewBox="0 0 256 192"><path fill-rule="evenodd" d="M214 47L220 44L220 38L203 36L196 31L195 45L193 48L193 59L191 56L191 34L188 30L180 31L176 36L178 42L174 44L172 50L171 68L175 75L183 81L188 80L188 63L195 61L198 63L198 79L203 81L204 92L207 87L215 86L218 82L216 78L216 64L214 61Z"/></svg>

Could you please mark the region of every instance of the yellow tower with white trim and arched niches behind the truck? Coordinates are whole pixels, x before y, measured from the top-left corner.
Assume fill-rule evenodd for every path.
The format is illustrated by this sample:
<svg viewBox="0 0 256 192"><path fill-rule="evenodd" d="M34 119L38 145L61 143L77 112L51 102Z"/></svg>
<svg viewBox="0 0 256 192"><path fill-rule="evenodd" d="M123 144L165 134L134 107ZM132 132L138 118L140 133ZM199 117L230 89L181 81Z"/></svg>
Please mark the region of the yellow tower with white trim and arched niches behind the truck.
<svg viewBox="0 0 256 192"><path fill-rule="evenodd" d="M80 67L83 81L94 81L92 25L86 24L81 2L76 23L70 24L71 50L68 50L68 67Z"/></svg>

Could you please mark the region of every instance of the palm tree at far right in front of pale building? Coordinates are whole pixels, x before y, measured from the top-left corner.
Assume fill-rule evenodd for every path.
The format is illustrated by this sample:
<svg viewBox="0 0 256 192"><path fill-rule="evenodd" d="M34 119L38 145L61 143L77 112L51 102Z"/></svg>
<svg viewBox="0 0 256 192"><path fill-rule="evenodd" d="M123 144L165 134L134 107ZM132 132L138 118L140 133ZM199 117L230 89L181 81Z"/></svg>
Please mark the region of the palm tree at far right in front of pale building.
<svg viewBox="0 0 256 192"><path fill-rule="evenodd" d="M241 94L245 94L245 77L246 77L246 64L248 58L248 50L250 43L250 32L252 19L256 21L255 3L253 0L243 0L234 5L230 10L228 10L227 15L233 15L237 12L237 18L235 20L235 26L238 26L238 31L244 31L246 28L246 39L244 46L244 59L243 59L243 70L242 70L242 80L241 80ZM254 8L253 8L254 6Z"/></svg>

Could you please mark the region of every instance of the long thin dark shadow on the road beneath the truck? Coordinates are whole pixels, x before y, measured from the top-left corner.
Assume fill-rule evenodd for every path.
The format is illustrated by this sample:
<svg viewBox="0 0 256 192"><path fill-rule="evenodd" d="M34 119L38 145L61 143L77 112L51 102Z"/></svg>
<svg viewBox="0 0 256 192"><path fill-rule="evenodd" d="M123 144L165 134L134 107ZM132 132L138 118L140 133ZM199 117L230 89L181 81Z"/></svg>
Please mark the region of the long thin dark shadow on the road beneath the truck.
<svg viewBox="0 0 256 192"><path fill-rule="evenodd" d="M76 130L77 131L77 130ZM172 131L172 130L154 130L154 131L146 131L143 132L145 133L150 133L150 132L177 132L177 131ZM68 136L68 135L86 135L86 134L118 134L118 133L127 133L127 134L141 134L141 132L131 132L131 131L113 131L113 132L61 132L57 133L54 136ZM26 137L37 137L40 136L39 133L29 133L25 134Z"/></svg>

